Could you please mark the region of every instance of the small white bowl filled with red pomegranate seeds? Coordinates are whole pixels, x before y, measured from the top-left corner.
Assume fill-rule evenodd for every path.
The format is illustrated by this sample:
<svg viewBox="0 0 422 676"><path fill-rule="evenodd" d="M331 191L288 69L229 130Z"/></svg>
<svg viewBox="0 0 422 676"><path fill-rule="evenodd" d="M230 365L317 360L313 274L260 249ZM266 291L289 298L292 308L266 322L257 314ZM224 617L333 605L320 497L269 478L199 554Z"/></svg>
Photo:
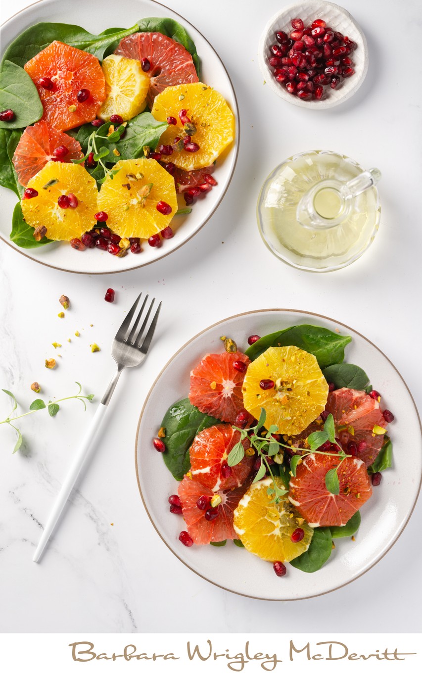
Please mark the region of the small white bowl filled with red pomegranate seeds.
<svg viewBox="0 0 422 676"><path fill-rule="evenodd" d="M331 2L301 2L279 11L262 32L258 55L266 84L303 107L346 101L368 70L362 29Z"/></svg>

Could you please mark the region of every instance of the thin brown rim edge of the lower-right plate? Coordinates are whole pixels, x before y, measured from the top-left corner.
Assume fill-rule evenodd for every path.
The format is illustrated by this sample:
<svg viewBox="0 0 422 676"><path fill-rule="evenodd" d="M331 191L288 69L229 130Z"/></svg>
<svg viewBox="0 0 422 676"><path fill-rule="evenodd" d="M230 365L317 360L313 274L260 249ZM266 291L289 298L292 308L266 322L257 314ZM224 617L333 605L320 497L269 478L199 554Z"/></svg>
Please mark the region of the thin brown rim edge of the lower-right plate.
<svg viewBox="0 0 422 676"><path fill-rule="evenodd" d="M237 318L237 317L246 316L246 315L249 315L249 314L258 314L258 313L261 313L261 312L288 312L288 313L289 313L289 312L296 312L296 313L298 313L298 314L303 314L303 315L312 316L312 317L318 317L318 318L320 318L320 319L323 319L323 320L327 320L327 321L329 321L329 322L332 322L333 324L337 324L339 327L344 327L344 329L348 329L348 331L353 331L353 332L356 333L356 335L358 335L360 338L362 338L363 340L367 341L367 343L369 343L372 347L374 347L374 348L377 350L377 352L379 352L379 353L383 356L383 358L385 358L385 359L389 362L389 364L392 366L392 368L394 368L394 370L396 371L398 377L402 380L402 383L403 383L404 387L406 387L406 390L408 391L408 395L411 397L411 402L412 402L412 404L413 404L413 407L414 407L414 409L415 409L415 413L416 413L416 415L417 415L417 420L418 420L418 422L419 422L419 431L421 432L421 437L422 437L422 422L421 422L421 416L419 415L419 411L418 411L418 409L417 409L417 406L416 406L416 403L415 403L415 399L413 398L413 395L412 395L412 393L411 393L411 390L409 389L409 387L408 387L406 381L405 381L404 378L402 377L402 374L400 373L400 371L398 370L398 368L396 368L396 366L394 366L393 362L388 358L388 356L387 356L386 354L384 354L384 352L383 352L379 347L377 347L377 345L375 345L375 343L373 343L369 338L367 338L366 336L364 336L364 335L363 335L362 333L360 333L359 331L356 331L356 329L353 329L352 327L349 327L348 324L344 324L344 322L339 322L338 320L335 320L335 319L333 319L332 317L328 317L328 316L325 315L325 314L319 314L318 312L310 312L310 311L308 312L307 310L296 310L296 309L294 309L294 308L264 308L264 309L260 308L260 309L258 309L258 310L248 310L247 312L239 312L239 313L237 313L237 314L232 314L232 315L229 316L229 317L226 317L226 318L224 318L224 319L221 319L221 320L219 320L218 322L214 322L213 324L210 324L209 327L206 327L205 329L202 329L202 331L199 331L198 333L196 333L196 334L195 334L194 336L192 336L188 341L186 341L181 347L179 347L179 349L177 349L177 351L174 352L174 354L170 357L170 359L168 360L168 362L166 362L166 364L163 366L163 368L160 370L160 373L158 374L158 376L157 376L156 379L154 380L154 383L152 383L151 387L149 388L149 391L148 391L148 393L147 393L147 395L146 395L146 397L145 397L145 400L144 400L144 402L143 402L143 406L142 406L142 408L141 408L141 413L139 414L139 419L138 419L138 424L137 424L137 432L136 432L136 437L135 437L135 473L136 473L136 477L137 477L137 485L138 485L138 489L139 489L139 495L141 496L141 500L142 500L143 506L144 506L144 508L145 508L145 512L147 513L147 516L148 516L148 518L149 518L149 521L151 521L151 524L154 526L154 529L156 530L156 532L158 533L160 539L162 539L162 541L164 542L164 544L166 545L166 547L168 548L168 550L170 550L170 552L171 552L174 556L176 556L176 558L177 558L184 566L186 566L192 573L195 573L195 575L197 575L198 577L201 577L202 579L206 580L208 583L214 585L215 587L218 587L219 589L223 589L223 591L225 591L225 592L230 592L231 594L236 594L237 596L243 596L243 597L245 597L245 598L253 598L253 599L258 600L258 601L271 601L271 602L275 602L275 603L286 602L286 601L289 601L289 602L294 602L294 601L304 601L304 600L308 600L308 599L310 599L310 598L316 598L316 597L318 597L318 596L325 596L325 594L331 594L331 592L336 592L337 589L342 589L342 587L346 587L346 586L349 585L350 583L352 583L352 582L354 582L355 580L357 580L359 577L362 577L362 575L365 575L365 573L367 573L368 571L370 571L370 570L371 570L371 569L372 569L379 561L381 561L382 558L384 558L384 556L385 556L386 554L388 554L388 552L390 552L390 550L391 550L392 547L396 544L396 542L398 541L398 538L400 537L400 535L402 535L404 529L405 529L406 526L408 525L408 522L410 521L411 516L412 516L412 514L413 514L413 512L414 512L414 510L415 510L415 506L416 506L416 504L417 504L419 495L420 495L420 493L421 493L421 487L422 487L422 474L421 474L421 477L420 477L420 479L419 479L419 487L418 487L418 489L417 489L417 494L416 494L416 496L415 496L415 500L414 500L414 502L413 502L413 505L412 505L411 510L408 512L406 521L405 521L404 524L402 525L402 528L401 528L400 531L397 533L397 535L396 535L396 537L394 538L394 540L390 543L390 545L388 546L388 548L385 550L385 552L383 552L383 554L381 554L381 556L379 556L379 557L371 564L371 566L369 566L367 569L365 569L365 571L362 571L362 573L359 573L358 575L355 575L354 577L352 577L352 578L351 578L350 580L348 580L347 582L344 582L344 583L341 584L341 585L337 585L336 587L333 587L332 589L328 589L326 592L319 592L318 594L311 594L310 596L300 596L300 597L297 597L297 598L277 598L277 599L268 599L268 598L264 598L264 597L262 597L262 596L253 596L252 594L243 594L242 592L235 592L233 589L228 589L227 587L224 587L223 585L220 585L220 584L218 584L217 582L214 582L213 580L210 580L208 577L206 577L206 575L202 575L202 573L198 573L198 572L195 571L191 566L189 566L189 564L186 563L186 562L185 562L185 561L177 554L177 552L175 552L175 551L170 547L170 545L166 542L166 540L164 539L164 537L162 536L162 534L161 534L160 531L158 530L158 527L156 526L156 524L154 523L153 518L151 517L151 514L149 514L147 505L146 505L145 500L144 500L144 498L143 498L142 489L141 489L141 483L140 483L140 481L139 481L139 468L138 468L138 454L137 454L137 450L138 450L139 431L140 431L140 429L141 429L141 421L142 421L142 417L143 417L143 412L144 412L144 410L145 410L145 406L147 405L147 402L148 402L148 400L149 400L149 397L150 397L152 391L153 391L154 388L156 387L156 384L158 383L158 381L159 381L160 378L162 377L162 375L163 375L164 371L166 370L166 368L167 368L167 367L171 364L171 362L172 362L172 361L173 361L173 360L174 360L174 359L175 359L175 358L183 351L183 349L185 349L185 347L188 347L188 345L190 345L190 343L192 343L195 339L197 339L198 337L200 337L201 335L203 335L203 334L206 333L207 331L210 331L210 329L213 329L214 327L217 327L219 324L224 324L225 322L227 322L227 321L229 321L229 320L231 320L231 319L235 319L235 318Z"/></svg>

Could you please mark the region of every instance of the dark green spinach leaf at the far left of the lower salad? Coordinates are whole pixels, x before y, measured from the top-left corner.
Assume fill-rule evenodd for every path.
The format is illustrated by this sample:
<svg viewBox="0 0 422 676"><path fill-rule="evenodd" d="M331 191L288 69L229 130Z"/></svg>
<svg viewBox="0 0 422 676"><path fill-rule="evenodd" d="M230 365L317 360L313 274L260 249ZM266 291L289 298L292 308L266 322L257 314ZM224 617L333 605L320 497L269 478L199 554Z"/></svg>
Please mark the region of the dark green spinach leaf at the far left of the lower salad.
<svg viewBox="0 0 422 676"><path fill-rule="evenodd" d="M170 406L161 423L161 427L166 428L166 436L162 439L166 450L162 456L174 479L181 481L189 472L189 448L197 433L218 423L220 420L201 413L189 399Z"/></svg>

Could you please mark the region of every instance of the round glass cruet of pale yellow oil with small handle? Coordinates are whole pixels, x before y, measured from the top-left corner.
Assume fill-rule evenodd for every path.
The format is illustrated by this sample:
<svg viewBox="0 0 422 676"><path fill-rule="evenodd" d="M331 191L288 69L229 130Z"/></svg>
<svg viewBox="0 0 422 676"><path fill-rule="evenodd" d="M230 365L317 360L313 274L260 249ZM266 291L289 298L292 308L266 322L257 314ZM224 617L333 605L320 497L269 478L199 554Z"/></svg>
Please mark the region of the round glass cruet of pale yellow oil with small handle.
<svg viewBox="0 0 422 676"><path fill-rule="evenodd" d="M304 270L349 265L371 245L381 208L378 169L331 151L288 158L266 178L258 198L258 226L273 254Z"/></svg>

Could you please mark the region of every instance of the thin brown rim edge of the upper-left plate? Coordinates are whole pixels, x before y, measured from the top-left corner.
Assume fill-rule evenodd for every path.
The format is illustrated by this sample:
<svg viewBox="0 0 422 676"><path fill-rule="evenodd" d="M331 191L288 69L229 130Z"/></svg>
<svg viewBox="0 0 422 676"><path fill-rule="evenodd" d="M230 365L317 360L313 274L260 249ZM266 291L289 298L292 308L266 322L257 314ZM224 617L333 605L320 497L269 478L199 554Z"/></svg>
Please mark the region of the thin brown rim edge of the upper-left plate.
<svg viewBox="0 0 422 676"><path fill-rule="evenodd" d="M30 9L30 7L34 7L34 5L39 5L40 3L43 3L43 2L47 3L47 2L54 2L54 1L57 2L59 0L36 0L36 2L30 3L30 5L26 5L26 7L24 7L23 9L20 9L19 11L16 11L15 14L12 14L11 16L9 16L8 19L6 19L5 21L3 21L2 24L0 24L0 28L3 28L3 26L6 26L6 24L8 24L9 21L14 19L19 14L23 14L27 9ZM168 11L172 12L172 14L175 14L177 17L182 19L183 22L185 22L185 24L187 24L187 26L191 26L191 28L196 30L200 34L200 36L206 41L206 43L208 43L208 45L210 45L210 48L212 49L212 51L214 51L218 61L220 62L220 64L222 65L222 68L225 71L225 74L227 75L227 79L229 80L229 84L230 84L231 90L233 92L233 99L234 99L234 103L235 103L235 110L233 111L233 114L235 115L235 119L236 119L235 156L234 156L233 168L231 170L229 180L227 181L227 185L225 186L225 189L222 191L220 198L218 199L218 201L217 201L216 205L214 206L214 209L212 210L212 212L210 212L210 214L208 214L208 216L206 217L206 219L204 220L202 225L200 225L200 227L197 228L197 230L195 230L195 232L192 233L190 235L190 237L185 239L185 241L181 242L179 244L179 246L175 247L171 251L168 251L167 254L163 254L162 256L160 256L160 258L154 258L154 260L150 260L150 261L147 261L145 263L141 263L140 265L137 265L133 268L128 268L128 269L125 268L124 270L110 270L109 272L84 272L83 270L68 270L68 268L60 268L56 265L52 265L51 263L46 263L43 260L39 260L37 258L32 258L32 256L29 256L28 254L25 253L25 249L20 249L20 247L14 247L14 245L11 244L11 242L9 240L5 239L2 235L2 233L0 233L0 240L3 241L5 244L7 244L7 246L9 246L13 251L17 251L18 254L25 256L25 258L28 258L28 260L32 260L34 263L39 263L39 264L45 266L46 268L51 268L53 270L60 270L60 272L71 272L72 274L88 274L88 275L93 275L93 274L120 274L122 272L132 272L132 270L139 270L139 268L146 268L148 265L154 264L154 263L158 262L159 260L163 260L164 258L167 258L167 256L170 256L170 254L174 254L174 251L178 251L181 247L183 247L183 245L185 245L187 242L191 241L191 239L193 237L195 237L195 235L197 235L197 233L199 233L202 230L202 228L208 223L210 218L212 218L212 216L214 216L216 210L218 209L218 207L220 206L220 204L222 202L222 199L225 197L225 194L227 193L227 190L229 189L229 185L231 184L231 181L233 180L233 175L235 173L235 169L236 169L236 166L237 166L237 160L239 159L241 122L240 122L239 102L237 101L237 95L236 95L235 87L233 86L233 82L232 82L231 77L229 75L229 72L228 72L228 70L225 66L225 63L222 61L222 58L218 54L218 51L216 51L214 46L204 36L204 34L202 34L202 32L200 30L198 30L198 28L196 28L196 26L193 26L193 24L191 24L190 21L185 19L184 16L179 14L178 11L174 11L174 9L171 9L171 7L167 7L167 5L164 5L164 3L158 2L158 0L148 0L148 2L154 3L154 5L160 5L160 7L164 7L164 9L168 9Z"/></svg>

